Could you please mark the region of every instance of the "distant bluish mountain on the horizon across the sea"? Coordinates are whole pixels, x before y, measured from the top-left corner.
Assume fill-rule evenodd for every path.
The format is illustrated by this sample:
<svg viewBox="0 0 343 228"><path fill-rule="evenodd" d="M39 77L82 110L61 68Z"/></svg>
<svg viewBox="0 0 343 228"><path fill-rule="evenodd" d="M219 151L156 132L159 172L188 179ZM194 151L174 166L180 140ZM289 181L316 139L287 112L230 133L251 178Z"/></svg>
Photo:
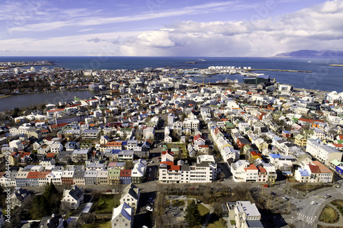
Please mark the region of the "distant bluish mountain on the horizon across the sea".
<svg viewBox="0 0 343 228"><path fill-rule="evenodd" d="M273 57L279 58L343 58L343 51L333 50L299 50L286 53L279 53Z"/></svg>

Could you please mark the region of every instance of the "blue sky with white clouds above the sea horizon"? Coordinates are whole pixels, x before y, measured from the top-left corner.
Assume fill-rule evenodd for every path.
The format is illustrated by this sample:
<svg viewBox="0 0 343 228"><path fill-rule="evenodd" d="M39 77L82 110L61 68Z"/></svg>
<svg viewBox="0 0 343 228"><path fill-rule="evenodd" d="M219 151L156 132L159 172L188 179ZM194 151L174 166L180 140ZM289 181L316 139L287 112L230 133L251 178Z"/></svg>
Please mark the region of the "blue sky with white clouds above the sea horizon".
<svg viewBox="0 0 343 228"><path fill-rule="evenodd" d="M3 0L0 56L270 57L343 50L343 1Z"/></svg>

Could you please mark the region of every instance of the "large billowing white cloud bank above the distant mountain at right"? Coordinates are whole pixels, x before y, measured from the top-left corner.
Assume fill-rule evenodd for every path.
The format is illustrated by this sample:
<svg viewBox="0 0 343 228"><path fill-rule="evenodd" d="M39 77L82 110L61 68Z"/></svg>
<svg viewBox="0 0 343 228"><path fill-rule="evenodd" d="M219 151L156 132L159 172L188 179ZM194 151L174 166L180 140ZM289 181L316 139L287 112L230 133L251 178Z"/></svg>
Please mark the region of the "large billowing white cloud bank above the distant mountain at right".
<svg viewBox="0 0 343 228"><path fill-rule="evenodd" d="M181 21L129 38L132 55L272 56L298 49L343 49L342 1L256 21ZM168 48L166 51L165 48Z"/></svg>

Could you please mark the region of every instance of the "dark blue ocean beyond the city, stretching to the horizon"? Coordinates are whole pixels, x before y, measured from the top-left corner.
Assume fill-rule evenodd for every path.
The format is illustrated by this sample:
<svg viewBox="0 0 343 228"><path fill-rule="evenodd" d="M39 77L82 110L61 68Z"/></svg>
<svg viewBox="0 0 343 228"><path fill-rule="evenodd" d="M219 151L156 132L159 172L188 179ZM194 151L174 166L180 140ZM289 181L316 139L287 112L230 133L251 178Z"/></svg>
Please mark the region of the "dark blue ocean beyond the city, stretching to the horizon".
<svg viewBox="0 0 343 228"><path fill-rule="evenodd" d="M206 61L202 61L203 59ZM217 57L0 57L0 62L39 61L49 60L55 66L71 70L115 70L140 69L145 67L172 68L208 68L209 66L250 66L261 69L282 69L295 71L312 71L313 73L291 73L279 71L256 71L269 75L283 84L291 84L295 88L342 92L343 67L328 66L343 64L342 58L217 58ZM186 62L195 62L189 64ZM54 66L49 66L54 67ZM36 68L40 68L37 66ZM204 79L205 82L215 82L225 78L243 81L241 75L217 75ZM195 79L197 80L197 79ZM202 81L202 79L198 79Z"/></svg>

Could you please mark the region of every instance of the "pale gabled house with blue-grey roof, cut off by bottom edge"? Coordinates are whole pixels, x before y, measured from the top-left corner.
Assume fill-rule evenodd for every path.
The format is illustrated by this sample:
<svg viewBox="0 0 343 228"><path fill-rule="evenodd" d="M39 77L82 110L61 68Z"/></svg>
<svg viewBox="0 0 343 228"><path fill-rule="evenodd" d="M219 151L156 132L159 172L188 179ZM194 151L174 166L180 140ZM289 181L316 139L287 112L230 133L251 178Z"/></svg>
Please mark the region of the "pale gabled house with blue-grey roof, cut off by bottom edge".
<svg viewBox="0 0 343 228"><path fill-rule="evenodd" d="M134 221L133 210L127 203L121 203L116 208L113 208L112 219L110 223L112 228L128 227L132 228Z"/></svg>

